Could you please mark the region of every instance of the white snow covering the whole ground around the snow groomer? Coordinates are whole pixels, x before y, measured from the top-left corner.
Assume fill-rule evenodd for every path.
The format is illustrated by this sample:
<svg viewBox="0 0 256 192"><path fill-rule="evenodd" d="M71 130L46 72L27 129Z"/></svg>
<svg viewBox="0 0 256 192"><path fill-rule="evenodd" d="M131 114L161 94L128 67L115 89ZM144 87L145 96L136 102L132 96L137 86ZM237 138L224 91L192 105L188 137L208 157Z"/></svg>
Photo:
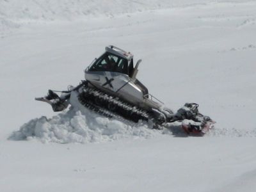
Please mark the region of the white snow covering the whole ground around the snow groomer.
<svg viewBox="0 0 256 192"><path fill-rule="evenodd" d="M256 191L256 1L0 0L0 191ZM36 102L106 45L217 124L203 138Z"/></svg>

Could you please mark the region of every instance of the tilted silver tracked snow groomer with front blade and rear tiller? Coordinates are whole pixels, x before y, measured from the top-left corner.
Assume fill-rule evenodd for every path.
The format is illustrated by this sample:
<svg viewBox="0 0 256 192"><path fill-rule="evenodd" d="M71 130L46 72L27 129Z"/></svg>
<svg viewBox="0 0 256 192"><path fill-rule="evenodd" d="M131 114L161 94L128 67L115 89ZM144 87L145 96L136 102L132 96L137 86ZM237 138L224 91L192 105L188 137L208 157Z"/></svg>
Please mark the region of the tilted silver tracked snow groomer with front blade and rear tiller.
<svg viewBox="0 0 256 192"><path fill-rule="evenodd" d="M51 104L53 111L63 111L69 105L81 111L88 108L108 118L125 118L133 122L146 120L161 129L181 122L188 134L204 135L215 123L198 111L198 104L186 103L177 113L148 93L137 78L141 60L134 66L133 55L113 45L84 70L85 80L68 86L59 96L49 90L47 96L35 98Z"/></svg>

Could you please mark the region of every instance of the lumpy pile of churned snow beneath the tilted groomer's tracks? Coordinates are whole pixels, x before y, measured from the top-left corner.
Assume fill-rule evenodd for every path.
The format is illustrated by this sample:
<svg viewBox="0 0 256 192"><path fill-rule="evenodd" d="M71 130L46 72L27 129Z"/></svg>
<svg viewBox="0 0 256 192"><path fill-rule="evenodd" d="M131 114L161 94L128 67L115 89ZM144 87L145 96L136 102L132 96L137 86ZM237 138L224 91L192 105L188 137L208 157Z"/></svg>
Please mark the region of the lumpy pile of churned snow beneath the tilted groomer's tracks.
<svg viewBox="0 0 256 192"><path fill-rule="evenodd" d="M87 110L70 109L52 118L42 116L22 125L13 132L11 140L38 139L43 143L95 143L119 140L120 138L151 138L159 130L150 129L145 122L133 124L99 116Z"/></svg>

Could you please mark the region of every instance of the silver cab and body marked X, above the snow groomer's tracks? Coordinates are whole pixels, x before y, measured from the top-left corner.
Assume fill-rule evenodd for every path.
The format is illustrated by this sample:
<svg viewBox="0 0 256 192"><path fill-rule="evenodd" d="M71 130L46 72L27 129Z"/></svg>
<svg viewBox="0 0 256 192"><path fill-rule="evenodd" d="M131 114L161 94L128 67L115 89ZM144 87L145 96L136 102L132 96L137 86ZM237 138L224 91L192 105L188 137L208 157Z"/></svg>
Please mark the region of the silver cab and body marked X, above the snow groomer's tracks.
<svg viewBox="0 0 256 192"><path fill-rule="evenodd" d="M84 76L93 86L104 92L118 95L132 103L140 103L148 97L147 88L136 79L139 60L136 67L133 55L113 45L84 70Z"/></svg>

